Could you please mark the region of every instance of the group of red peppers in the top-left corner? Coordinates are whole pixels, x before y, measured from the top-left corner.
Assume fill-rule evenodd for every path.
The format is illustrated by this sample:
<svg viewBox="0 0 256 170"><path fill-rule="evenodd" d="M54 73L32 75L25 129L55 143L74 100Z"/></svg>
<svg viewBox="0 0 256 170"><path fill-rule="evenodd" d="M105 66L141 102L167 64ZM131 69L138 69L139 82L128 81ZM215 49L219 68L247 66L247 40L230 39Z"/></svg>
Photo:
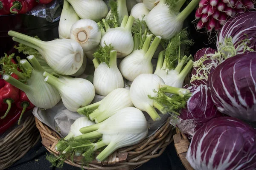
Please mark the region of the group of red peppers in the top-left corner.
<svg viewBox="0 0 256 170"><path fill-rule="evenodd" d="M39 3L47 4L52 0L0 0L0 15L26 14Z"/></svg>

